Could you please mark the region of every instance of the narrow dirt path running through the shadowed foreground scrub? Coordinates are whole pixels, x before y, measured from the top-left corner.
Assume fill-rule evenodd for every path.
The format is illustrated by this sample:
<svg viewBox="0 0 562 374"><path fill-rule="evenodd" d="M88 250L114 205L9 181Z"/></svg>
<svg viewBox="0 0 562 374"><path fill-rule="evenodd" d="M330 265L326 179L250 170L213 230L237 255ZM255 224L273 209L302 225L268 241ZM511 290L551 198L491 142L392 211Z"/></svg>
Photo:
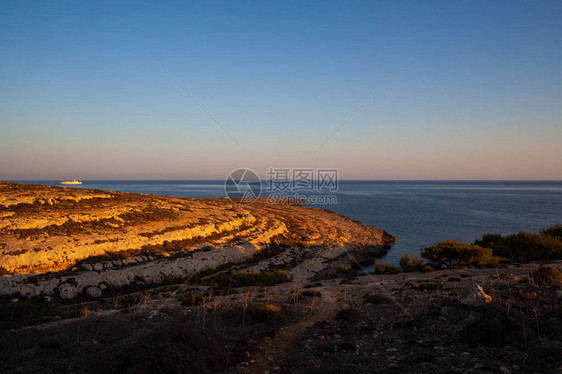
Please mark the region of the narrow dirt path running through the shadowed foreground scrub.
<svg viewBox="0 0 562 374"><path fill-rule="evenodd" d="M253 363L247 373L275 372L280 370L283 359L293 352L301 341L304 332L316 322L330 319L339 311L337 297L341 293L340 287L330 285L317 289L322 293L321 298L315 298L315 305L311 311L303 315L303 319L285 326L273 338L265 339L261 349L252 357Z"/></svg>

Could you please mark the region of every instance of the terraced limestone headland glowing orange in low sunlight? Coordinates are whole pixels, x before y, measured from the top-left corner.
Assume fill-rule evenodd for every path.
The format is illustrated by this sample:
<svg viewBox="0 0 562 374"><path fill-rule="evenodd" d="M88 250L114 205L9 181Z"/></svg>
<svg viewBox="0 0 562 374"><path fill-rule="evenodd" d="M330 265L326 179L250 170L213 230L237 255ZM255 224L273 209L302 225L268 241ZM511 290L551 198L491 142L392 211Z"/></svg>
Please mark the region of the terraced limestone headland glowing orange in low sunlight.
<svg viewBox="0 0 562 374"><path fill-rule="evenodd" d="M241 206L226 198L0 183L3 295L63 297L65 284L77 293L158 284L226 264L306 279L342 256L380 255L393 242L333 212L265 199Z"/></svg>

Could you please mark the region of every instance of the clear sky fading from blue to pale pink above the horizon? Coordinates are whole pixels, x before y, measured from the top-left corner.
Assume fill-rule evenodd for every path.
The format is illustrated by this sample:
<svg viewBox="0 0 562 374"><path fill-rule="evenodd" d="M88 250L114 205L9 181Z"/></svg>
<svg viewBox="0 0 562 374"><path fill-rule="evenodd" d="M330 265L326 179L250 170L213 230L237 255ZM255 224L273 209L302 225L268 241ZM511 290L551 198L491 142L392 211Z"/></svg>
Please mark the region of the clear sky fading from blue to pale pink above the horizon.
<svg viewBox="0 0 562 374"><path fill-rule="evenodd" d="M0 180L560 180L560 19L560 1L2 1Z"/></svg>

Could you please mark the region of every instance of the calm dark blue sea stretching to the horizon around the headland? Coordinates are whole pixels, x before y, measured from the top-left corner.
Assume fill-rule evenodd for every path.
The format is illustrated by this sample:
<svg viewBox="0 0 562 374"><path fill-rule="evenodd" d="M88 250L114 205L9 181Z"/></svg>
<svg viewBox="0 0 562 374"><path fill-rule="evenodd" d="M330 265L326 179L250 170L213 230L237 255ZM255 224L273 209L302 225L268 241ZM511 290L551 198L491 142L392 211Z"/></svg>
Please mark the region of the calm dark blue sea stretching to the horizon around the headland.
<svg viewBox="0 0 562 374"><path fill-rule="evenodd" d="M76 188L225 196L223 181L87 181ZM487 232L537 232L562 222L562 181L340 181L336 196L337 204L318 207L394 235L383 258L394 264L441 240L472 242Z"/></svg>

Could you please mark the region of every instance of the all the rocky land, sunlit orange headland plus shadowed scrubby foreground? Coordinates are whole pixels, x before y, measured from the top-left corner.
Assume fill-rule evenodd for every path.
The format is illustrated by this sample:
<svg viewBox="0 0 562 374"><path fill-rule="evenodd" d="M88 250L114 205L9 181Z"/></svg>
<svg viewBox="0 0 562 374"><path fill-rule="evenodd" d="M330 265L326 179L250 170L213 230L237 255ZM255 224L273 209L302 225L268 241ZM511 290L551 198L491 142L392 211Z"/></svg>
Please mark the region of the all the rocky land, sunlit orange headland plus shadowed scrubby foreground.
<svg viewBox="0 0 562 374"><path fill-rule="evenodd" d="M0 217L0 372L562 367L557 260L363 274L383 230L227 199L0 183Z"/></svg>

